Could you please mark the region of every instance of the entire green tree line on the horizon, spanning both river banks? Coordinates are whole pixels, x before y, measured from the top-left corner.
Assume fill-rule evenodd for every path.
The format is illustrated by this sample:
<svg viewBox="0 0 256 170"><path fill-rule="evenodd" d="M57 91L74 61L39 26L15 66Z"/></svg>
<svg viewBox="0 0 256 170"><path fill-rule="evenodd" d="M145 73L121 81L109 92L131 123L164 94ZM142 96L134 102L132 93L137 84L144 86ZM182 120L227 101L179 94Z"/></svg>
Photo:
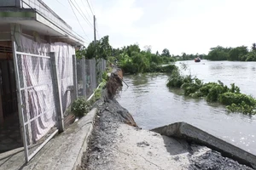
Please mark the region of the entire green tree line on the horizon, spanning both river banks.
<svg viewBox="0 0 256 170"><path fill-rule="evenodd" d="M87 48L77 51L77 57L85 59L108 59L112 63L117 63L125 72L154 72L160 71L160 65L168 64L177 60L191 60L197 57L209 60L230 60L230 61L256 61L256 43L248 49L246 46L236 48L224 48L217 46L210 48L208 54L171 54L169 49L164 48L160 53L152 53L151 46L143 49L137 43L113 48L109 44L109 37L102 37L96 42L90 42Z"/></svg>

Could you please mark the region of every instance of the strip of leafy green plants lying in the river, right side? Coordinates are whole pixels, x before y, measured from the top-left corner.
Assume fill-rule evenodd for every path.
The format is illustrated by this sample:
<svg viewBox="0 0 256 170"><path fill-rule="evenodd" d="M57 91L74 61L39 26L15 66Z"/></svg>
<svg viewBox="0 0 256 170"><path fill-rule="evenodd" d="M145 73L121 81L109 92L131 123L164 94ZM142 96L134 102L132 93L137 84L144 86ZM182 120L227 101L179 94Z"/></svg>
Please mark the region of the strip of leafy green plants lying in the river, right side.
<svg viewBox="0 0 256 170"><path fill-rule="evenodd" d="M256 99L247 94L241 94L235 83L230 88L223 82L203 83L197 77L183 76L177 69L167 82L169 88L182 88L183 94L192 98L205 98L208 102L219 102L226 105L230 112L241 112L247 115L256 114Z"/></svg>

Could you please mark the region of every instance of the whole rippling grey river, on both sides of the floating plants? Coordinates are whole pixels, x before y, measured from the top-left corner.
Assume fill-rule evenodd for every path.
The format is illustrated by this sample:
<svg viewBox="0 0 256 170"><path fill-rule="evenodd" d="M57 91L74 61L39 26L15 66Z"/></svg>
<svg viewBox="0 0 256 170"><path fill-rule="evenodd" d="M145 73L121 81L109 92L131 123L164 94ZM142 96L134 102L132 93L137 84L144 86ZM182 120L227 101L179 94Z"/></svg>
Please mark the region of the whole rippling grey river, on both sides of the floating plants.
<svg viewBox="0 0 256 170"><path fill-rule="evenodd" d="M204 82L235 82L241 93L256 97L256 62L194 61L184 63L183 74L194 75ZM228 113L223 105L204 99L191 99L177 89L166 87L166 74L125 76L118 101L134 117L139 127L152 129L173 122L188 122L220 139L256 155L256 116Z"/></svg>

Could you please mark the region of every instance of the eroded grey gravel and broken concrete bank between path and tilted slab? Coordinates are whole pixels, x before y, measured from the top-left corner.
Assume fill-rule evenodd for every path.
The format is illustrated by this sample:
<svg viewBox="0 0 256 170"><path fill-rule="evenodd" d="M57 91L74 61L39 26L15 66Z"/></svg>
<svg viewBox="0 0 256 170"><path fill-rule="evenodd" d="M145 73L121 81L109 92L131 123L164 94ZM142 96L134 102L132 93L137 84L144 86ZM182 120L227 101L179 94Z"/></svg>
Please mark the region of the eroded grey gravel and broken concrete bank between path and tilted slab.
<svg viewBox="0 0 256 170"><path fill-rule="evenodd" d="M95 127L78 169L252 169L205 146L140 129L116 99L103 97L95 106Z"/></svg>

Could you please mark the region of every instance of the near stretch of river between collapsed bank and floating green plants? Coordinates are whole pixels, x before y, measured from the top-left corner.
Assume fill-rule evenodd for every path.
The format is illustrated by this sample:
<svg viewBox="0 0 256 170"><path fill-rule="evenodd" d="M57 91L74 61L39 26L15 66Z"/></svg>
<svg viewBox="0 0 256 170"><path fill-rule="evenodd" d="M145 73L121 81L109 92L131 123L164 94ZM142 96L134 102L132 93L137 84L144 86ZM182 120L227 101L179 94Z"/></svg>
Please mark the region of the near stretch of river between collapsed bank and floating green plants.
<svg viewBox="0 0 256 170"><path fill-rule="evenodd" d="M180 90L166 88L167 78L163 74L124 77L129 88L123 87L118 100L140 127L188 122L256 155L255 116L228 113L223 105L185 98Z"/></svg>

